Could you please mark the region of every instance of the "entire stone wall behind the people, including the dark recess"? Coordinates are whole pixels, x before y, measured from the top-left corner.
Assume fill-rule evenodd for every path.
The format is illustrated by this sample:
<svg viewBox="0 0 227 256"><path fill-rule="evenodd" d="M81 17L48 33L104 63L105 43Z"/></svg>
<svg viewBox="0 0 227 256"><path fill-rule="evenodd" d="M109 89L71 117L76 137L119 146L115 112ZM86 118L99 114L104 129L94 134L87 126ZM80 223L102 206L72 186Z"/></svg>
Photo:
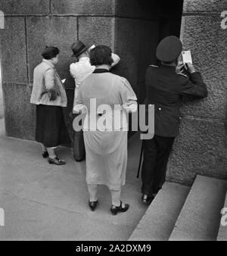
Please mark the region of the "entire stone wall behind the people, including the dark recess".
<svg viewBox="0 0 227 256"><path fill-rule="evenodd" d="M0 30L5 130L8 136L34 139L35 108L30 105L33 68L45 45L61 50L58 72L64 79L70 45L109 45L121 57L114 73L125 76L145 98L145 70L156 63L155 48L164 36L179 33L181 0L0 0L5 30ZM176 4L177 3L177 4ZM181 38L191 49L209 96L182 105L180 134L168 164L167 179L190 185L196 173L227 178L226 30L220 27L222 0L185 0Z"/></svg>

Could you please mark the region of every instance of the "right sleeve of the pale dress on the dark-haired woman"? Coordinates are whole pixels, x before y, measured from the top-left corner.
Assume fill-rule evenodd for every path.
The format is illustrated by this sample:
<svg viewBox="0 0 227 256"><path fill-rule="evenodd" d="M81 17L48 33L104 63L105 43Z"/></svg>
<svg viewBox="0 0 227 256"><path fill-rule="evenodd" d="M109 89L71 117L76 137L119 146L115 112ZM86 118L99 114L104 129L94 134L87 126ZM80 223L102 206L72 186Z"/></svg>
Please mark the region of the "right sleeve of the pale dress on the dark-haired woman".
<svg viewBox="0 0 227 256"><path fill-rule="evenodd" d="M120 98L123 108L128 112L137 111L137 97L128 80L123 79L123 84L120 86Z"/></svg>

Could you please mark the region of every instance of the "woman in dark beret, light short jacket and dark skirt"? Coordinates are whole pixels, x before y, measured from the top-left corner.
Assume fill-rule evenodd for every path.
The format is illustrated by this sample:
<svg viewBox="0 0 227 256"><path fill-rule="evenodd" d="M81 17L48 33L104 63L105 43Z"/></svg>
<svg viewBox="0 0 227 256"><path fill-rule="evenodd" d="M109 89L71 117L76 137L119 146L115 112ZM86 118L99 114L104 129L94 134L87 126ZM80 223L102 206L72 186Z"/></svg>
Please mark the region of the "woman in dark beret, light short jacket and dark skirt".
<svg viewBox="0 0 227 256"><path fill-rule="evenodd" d="M49 164L62 165L65 161L55 155L55 148L64 142L64 117L67 96L61 78L54 66L58 63L59 49L46 47L42 63L33 74L33 91L30 102L36 105L36 142L42 145L42 156Z"/></svg>

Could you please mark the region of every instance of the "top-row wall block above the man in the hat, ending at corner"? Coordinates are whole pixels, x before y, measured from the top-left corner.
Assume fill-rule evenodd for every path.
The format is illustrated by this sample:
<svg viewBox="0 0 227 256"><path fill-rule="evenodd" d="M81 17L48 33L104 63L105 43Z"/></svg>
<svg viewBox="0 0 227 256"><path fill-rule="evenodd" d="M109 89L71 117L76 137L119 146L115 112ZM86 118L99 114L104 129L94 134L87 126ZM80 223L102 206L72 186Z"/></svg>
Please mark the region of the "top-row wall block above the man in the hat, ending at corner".
<svg viewBox="0 0 227 256"><path fill-rule="evenodd" d="M115 0L52 0L54 14L114 14Z"/></svg>

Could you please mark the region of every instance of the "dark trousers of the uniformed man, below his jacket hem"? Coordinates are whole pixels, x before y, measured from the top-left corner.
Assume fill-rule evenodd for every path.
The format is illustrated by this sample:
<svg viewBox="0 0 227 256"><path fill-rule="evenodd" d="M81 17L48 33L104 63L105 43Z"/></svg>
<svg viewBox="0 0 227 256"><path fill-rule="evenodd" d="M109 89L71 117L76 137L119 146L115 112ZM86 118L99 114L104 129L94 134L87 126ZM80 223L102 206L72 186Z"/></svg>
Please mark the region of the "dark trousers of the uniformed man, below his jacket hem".
<svg viewBox="0 0 227 256"><path fill-rule="evenodd" d="M166 165L175 137L154 135L153 139L143 140L144 159L141 170L141 192L156 194L166 180Z"/></svg>

